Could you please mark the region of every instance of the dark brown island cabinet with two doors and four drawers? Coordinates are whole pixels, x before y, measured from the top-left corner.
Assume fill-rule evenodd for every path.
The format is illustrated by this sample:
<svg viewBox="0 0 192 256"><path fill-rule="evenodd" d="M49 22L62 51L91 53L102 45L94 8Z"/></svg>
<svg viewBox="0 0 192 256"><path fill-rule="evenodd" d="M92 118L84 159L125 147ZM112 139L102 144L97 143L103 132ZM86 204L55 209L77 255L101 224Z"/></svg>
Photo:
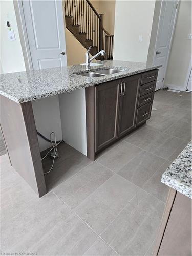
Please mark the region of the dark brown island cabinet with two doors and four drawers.
<svg viewBox="0 0 192 256"><path fill-rule="evenodd" d="M157 75L156 69L86 88L90 159L150 118Z"/></svg>

